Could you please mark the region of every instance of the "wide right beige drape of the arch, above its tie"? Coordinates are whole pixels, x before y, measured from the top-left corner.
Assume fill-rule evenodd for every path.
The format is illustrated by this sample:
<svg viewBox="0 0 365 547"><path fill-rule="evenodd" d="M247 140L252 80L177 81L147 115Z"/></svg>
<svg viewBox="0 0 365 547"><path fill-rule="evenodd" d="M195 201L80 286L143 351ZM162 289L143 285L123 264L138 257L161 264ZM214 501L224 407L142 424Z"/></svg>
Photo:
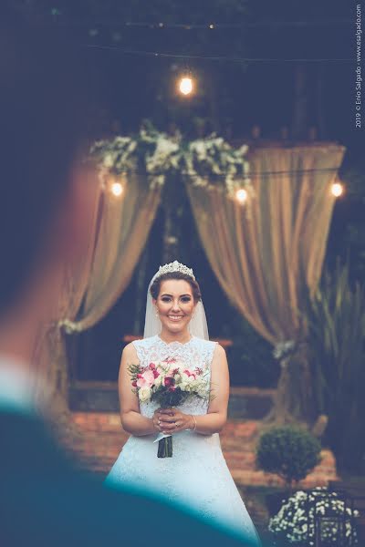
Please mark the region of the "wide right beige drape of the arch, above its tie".
<svg viewBox="0 0 365 547"><path fill-rule="evenodd" d="M318 283L335 200L330 182L343 154L331 144L252 151L255 197L245 205L187 183L214 274L272 344L300 334L300 294L304 282L311 290Z"/></svg>

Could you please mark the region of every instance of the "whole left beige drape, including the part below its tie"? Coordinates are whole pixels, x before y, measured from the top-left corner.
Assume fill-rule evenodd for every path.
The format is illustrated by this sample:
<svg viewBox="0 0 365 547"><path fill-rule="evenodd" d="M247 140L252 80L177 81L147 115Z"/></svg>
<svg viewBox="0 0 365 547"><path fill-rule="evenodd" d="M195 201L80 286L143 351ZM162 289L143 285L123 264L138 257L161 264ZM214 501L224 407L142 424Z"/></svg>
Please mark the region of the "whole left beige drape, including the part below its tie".
<svg viewBox="0 0 365 547"><path fill-rule="evenodd" d="M65 331L80 332L96 325L116 303L130 282L161 198L141 175L122 181L117 196L110 185L100 186L90 227L89 248L79 271L65 264L58 316L46 325L35 348L35 364L42 368L55 392L68 391Z"/></svg>

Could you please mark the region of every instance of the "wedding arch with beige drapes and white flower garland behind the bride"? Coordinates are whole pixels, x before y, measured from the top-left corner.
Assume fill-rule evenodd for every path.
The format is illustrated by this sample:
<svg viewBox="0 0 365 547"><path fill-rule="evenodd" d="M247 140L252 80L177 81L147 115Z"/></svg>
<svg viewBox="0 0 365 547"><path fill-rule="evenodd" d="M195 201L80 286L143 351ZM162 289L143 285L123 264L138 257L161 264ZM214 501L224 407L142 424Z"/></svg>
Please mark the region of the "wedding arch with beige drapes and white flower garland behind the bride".
<svg viewBox="0 0 365 547"><path fill-rule="evenodd" d="M66 400L65 336L96 325L116 303L141 256L163 186L180 177L225 294L276 346L282 364L276 418L316 418L300 310L321 274L335 201L329 188L344 151L333 143L234 149L215 135L186 142L152 128L97 142L91 157L100 187L89 249L81 272L65 265L63 319L46 326L35 350L55 391Z"/></svg>

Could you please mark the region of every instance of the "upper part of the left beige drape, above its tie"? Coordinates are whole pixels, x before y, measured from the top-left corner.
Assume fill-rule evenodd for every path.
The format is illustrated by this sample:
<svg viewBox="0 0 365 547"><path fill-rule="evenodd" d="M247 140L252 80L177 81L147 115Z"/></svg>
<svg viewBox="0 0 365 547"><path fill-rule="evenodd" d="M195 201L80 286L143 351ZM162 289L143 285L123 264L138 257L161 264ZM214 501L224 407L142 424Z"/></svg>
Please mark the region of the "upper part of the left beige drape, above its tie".
<svg viewBox="0 0 365 547"><path fill-rule="evenodd" d="M150 190L141 175L130 176L123 186L120 197L111 191L103 193L99 236L83 309L73 322L78 331L96 325L126 289L156 215L160 189Z"/></svg>

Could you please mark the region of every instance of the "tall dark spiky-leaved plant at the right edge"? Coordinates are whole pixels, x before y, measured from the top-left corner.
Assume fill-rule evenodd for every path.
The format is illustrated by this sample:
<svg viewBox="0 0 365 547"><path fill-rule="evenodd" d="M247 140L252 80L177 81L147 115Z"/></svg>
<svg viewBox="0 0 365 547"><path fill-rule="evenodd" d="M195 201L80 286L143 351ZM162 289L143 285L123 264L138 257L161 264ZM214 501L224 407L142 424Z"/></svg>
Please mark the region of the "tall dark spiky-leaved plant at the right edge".
<svg viewBox="0 0 365 547"><path fill-rule="evenodd" d="M349 266L324 274L307 306L310 363L318 411L339 469L365 465L365 291L349 284Z"/></svg>

